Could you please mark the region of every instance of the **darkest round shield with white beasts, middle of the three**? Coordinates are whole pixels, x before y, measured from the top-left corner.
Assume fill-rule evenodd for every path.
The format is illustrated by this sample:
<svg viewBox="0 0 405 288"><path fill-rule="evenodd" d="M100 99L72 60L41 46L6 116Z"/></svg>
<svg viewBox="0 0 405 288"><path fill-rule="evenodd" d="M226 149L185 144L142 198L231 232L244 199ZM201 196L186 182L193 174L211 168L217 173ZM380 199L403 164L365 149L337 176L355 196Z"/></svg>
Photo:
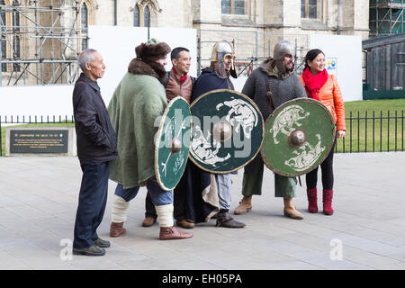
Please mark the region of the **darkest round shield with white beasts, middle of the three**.
<svg viewBox="0 0 405 288"><path fill-rule="evenodd" d="M246 166L263 143L264 121L257 105L229 89L202 94L193 115L190 159L205 171L227 174Z"/></svg>

